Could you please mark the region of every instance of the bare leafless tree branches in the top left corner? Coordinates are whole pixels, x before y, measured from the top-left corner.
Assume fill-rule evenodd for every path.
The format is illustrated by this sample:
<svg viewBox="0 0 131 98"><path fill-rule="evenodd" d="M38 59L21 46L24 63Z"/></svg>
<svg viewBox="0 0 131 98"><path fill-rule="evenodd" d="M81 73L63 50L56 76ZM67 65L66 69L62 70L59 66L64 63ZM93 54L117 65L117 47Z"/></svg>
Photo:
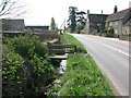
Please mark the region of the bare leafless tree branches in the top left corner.
<svg viewBox="0 0 131 98"><path fill-rule="evenodd" d="M15 17L26 13L20 0L0 0L0 16Z"/></svg>

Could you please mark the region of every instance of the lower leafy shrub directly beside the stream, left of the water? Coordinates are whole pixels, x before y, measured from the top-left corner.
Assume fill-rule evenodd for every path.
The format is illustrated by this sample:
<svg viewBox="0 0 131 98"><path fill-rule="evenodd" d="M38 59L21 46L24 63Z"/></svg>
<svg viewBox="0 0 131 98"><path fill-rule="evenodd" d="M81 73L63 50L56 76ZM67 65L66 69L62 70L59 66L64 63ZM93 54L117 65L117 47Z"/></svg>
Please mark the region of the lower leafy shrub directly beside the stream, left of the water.
<svg viewBox="0 0 131 98"><path fill-rule="evenodd" d="M48 62L48 58L37 57L35 53L32 60L28 61L28 83L26 95L44 95L47 86L53 81L53 66Z"/></svg>

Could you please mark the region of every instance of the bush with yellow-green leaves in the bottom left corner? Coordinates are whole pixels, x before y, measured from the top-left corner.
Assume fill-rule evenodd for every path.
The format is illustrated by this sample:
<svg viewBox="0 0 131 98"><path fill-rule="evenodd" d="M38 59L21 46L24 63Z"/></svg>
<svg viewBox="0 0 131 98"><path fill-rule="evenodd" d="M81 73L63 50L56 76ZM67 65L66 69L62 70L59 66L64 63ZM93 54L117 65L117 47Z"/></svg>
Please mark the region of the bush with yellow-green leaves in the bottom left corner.
<svg viewBox="0 0 131 98"><path fill-rule="evenodd" d="M3 96L20 96L24 84L23 58L3 45L2 47Z"/></svg>

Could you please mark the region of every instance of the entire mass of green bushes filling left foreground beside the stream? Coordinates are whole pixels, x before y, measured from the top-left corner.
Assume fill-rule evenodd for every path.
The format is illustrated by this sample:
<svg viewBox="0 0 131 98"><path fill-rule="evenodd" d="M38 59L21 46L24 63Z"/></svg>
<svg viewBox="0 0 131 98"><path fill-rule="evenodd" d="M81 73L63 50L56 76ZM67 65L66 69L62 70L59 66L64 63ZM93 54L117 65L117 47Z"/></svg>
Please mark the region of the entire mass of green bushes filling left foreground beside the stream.
<svg viewBox="0 0 131 98"><path fill-rule="evenodd" d="M29 34L8 39L3 45L3 96L38 96L53 79L48 48Z"/></svg>

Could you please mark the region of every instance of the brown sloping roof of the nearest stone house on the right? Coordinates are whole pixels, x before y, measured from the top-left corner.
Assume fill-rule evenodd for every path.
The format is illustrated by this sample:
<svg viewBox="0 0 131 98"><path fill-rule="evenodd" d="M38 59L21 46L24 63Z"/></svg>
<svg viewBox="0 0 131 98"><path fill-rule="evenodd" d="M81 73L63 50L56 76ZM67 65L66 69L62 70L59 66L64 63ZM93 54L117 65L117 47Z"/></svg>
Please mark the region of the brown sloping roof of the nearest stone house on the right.
<svg viewBox="0 0 131 98"><path fill-rule="evenodd" d="M126 9L126 10L122 10L122 11L119 11L119 12L117 12L117 13L110 14L110 15L107 17L106 21L108 22L108 21L121 20L121 19L123 19L129 12L131 12L131 8Z"/></svg>

